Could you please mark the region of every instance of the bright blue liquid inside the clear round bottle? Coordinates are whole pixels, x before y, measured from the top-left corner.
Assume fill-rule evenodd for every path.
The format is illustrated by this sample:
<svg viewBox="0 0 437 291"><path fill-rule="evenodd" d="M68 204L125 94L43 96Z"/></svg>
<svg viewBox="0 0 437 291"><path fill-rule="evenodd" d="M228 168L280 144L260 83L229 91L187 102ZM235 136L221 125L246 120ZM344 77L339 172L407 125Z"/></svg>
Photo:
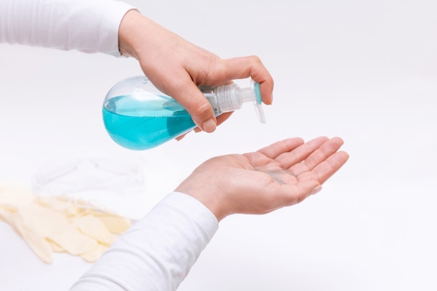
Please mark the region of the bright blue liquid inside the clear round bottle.
<svg viewBox="0 0 437 291"><path fill-rule="evenodd" d="M118 96L103 105L103 122L114 142L143 150L195 128L190 114L168 96Z"/></svg>

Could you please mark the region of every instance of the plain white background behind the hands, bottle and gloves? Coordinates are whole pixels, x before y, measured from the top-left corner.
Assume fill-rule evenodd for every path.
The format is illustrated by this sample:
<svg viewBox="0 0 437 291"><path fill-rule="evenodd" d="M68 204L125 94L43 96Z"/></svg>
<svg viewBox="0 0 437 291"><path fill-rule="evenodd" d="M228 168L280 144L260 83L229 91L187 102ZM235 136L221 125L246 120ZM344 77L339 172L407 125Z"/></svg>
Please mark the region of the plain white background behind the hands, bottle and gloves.
<svg viewBox="0 0 437 291"><path fill-rule="evenodd" d="M0 45L0 182L31 184L72 152L136 159L147 191L125 202L138 214L212 156L340 136L350 160L322 192L226 218L179 290L437 290L435 0L128 2L220 57L257 54L275 80L267 124L246 105L214 134L121 149L101 105L141 73L134 59ZM90 266L43 264L2 222L0 238L1 291L67 290Z"/></svg>

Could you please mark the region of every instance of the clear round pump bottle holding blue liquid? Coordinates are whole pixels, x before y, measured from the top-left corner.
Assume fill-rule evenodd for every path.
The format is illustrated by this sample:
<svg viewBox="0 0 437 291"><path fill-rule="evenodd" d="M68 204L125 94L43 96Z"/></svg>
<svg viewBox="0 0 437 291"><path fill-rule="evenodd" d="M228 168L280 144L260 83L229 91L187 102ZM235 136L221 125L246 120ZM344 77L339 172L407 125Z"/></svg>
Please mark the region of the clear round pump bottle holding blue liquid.
<svg viewBox="0 0 437 291"><path fill-rule="evenodd" d="M200 87L216 116L252 102L260 122L265 123L259 84L241 89L237 84ZM114 142L127 149L157 147L195 128L186 109L163 94L145 76L129 77L110 89L103 103L103 122Z"/></svg>

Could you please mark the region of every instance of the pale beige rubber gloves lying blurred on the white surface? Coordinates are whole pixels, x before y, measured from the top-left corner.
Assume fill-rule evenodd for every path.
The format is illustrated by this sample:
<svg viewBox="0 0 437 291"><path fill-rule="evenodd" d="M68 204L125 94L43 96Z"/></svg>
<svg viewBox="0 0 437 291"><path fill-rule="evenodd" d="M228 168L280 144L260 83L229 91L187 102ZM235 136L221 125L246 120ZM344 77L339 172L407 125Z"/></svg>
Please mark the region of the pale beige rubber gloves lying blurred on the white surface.
<svg viewBox="0 0 437 291"><path fill-rule="evenodd" d="M34 195L18 183L0 186L0 218L9 223L45 263L53 252L79 255L95 262L128 230L127 218L96 210L66 197Z"/></svg>

